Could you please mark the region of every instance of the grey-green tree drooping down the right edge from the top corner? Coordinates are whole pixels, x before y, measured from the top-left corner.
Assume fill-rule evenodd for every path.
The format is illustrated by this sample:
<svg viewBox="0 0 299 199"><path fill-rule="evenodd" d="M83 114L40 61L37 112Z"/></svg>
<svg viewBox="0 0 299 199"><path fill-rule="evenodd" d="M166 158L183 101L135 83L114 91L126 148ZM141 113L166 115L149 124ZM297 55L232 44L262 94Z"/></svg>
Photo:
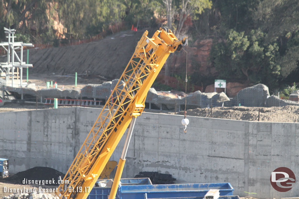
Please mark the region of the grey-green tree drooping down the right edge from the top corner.
<svg viewBox="0 0 299 199"><path fill-rule="evenodd" d="M287 78L298 70L299 62L299 1L260 1L254 19L256 26L267 32L266 41L279 46L281 75Z"/></svg>

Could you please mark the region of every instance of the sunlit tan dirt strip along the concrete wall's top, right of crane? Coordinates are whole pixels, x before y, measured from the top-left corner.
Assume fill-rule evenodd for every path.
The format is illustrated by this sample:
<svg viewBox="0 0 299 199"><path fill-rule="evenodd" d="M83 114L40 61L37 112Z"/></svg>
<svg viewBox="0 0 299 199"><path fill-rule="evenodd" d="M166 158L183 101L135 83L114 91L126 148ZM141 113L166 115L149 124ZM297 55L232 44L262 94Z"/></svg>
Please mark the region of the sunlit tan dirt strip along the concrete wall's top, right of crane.
<svg viewBox="0 0 299 199"><path fill-rule="evenodd" d="M284 106L260 108L260 121L263 122L299 122L299 106ZM173 114L173 113L171 113ZM177 113L184 115L184 111ZM211 117L211 109L190 109L187 110L189 116ZM212 117L231 119L258 121L259 107L213 107Z"/></svg>

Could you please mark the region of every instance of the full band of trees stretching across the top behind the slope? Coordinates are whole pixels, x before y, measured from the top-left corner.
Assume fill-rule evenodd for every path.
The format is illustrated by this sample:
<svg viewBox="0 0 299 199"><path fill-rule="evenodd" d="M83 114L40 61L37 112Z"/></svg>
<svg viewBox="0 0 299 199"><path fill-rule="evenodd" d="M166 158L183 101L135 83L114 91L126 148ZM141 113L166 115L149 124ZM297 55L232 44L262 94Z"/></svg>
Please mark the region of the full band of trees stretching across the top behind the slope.
<svg viewBox="0 0 299 199"><path fill-rule="evenodd" d="M25 42L59 45L61 38L85 39L142 21L167 25L178 37L187 32L189 41L214 38L210 55L219 77L213 78L280 84L294 82L299 75L299 1L1 0L0 4L2 40L6 40L3 27L16 28L16 36Z"/></svg>

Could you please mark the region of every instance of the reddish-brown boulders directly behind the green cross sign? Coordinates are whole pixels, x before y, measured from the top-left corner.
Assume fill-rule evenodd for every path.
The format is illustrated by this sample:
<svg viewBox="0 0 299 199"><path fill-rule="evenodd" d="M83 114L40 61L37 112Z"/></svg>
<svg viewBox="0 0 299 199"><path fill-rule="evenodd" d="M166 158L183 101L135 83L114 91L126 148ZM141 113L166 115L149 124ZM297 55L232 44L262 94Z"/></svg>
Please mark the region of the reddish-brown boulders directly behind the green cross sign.
<svg viewBox="0 0 299 199"><path fill-rule="evenodd" d="M248 87L246 84L241 84L239 82L228 82L226 84L226 95L230 98L233 98L237 93ZM214 92L214 84L210 84L206 87L205 92ZM216 88L216 92L224 92L224 88Z"/></svg>

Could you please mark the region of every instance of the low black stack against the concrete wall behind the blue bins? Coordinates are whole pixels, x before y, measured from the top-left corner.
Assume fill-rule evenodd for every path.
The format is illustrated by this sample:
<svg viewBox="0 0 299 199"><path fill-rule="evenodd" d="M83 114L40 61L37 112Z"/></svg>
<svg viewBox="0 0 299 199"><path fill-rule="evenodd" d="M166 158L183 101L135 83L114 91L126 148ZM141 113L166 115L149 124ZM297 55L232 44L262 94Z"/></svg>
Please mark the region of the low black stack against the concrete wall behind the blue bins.
<svg viewBox="0 0 299 199"><path fill-rule="evenodd" d="M172 178L171 174L163 174L158 172L139 172L134 178L149 178L152 184L173 184L176 178Z"/></svg>

